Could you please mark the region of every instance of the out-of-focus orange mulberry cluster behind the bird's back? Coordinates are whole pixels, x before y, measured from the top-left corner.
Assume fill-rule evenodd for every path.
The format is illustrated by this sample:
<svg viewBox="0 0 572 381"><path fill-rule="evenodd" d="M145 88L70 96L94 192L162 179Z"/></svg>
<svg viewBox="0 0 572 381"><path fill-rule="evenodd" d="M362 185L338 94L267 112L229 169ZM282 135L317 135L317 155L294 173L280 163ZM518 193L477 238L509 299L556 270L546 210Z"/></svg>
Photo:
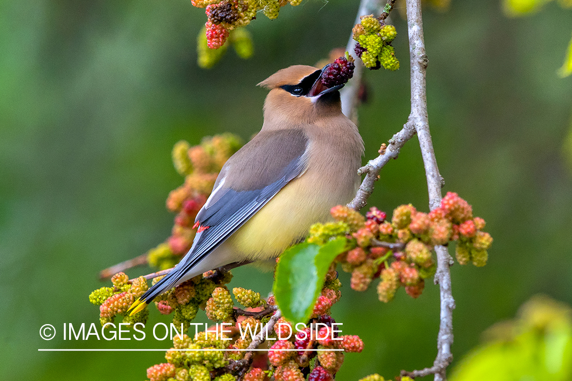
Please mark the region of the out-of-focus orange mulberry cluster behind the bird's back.
<svg viewBox="0 0 572 381"><path fill-rule="evenodd" d="M151 266L161 269L173 267L189 251L196 234L194 219L215 185L224 163L238 151L242 143L232 134L205 138L191 147L181 141L173 147L173 165L185 177L185 183L171 191L167 208L177 212L170 237L148 252Z"/></svg>

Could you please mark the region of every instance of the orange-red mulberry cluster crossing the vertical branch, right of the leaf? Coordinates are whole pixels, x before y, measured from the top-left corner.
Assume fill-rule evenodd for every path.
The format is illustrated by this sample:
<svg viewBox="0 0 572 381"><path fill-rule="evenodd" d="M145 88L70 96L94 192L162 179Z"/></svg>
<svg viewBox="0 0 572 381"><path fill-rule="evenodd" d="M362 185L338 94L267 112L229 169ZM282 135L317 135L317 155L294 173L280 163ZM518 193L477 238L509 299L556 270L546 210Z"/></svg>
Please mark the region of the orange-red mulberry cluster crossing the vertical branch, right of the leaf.
<svg viewBox="0 0 572 381"><path fill-rule="evenodd" d="M474 218L470 204L453 192L448 192L430 213L420 212L411 204L399 206L391 221L375 207L365 218L341 205L333 207L331 214L336 222L312 226L308 242L323 244L346 236L355 243L351 250L337 256L336 262L343 271L351 272L353 290L366 291L379 277L377 290L382 302L392 300L399 287L404 287L412 298L422 294L425 279L435 274L435 245L456 240L460 264L471 261L475 266L484 266L492 244L490 234L482 231L484 220Z"/></svg>

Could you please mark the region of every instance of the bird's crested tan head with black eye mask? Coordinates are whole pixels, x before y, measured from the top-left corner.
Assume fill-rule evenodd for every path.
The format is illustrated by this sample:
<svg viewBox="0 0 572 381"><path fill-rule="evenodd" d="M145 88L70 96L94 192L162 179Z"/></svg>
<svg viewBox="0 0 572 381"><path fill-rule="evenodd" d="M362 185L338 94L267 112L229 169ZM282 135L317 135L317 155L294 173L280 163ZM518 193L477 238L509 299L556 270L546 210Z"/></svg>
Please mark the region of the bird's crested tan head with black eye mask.
<svg viewBox="0 0 572 381"><path fill-rule="evenodd" d="M296 127L320 118L343 117L338 91L343 85L324 86L322 70L313 66L290 66L258 84L270 89L264 102L263 130Z"/></svg>

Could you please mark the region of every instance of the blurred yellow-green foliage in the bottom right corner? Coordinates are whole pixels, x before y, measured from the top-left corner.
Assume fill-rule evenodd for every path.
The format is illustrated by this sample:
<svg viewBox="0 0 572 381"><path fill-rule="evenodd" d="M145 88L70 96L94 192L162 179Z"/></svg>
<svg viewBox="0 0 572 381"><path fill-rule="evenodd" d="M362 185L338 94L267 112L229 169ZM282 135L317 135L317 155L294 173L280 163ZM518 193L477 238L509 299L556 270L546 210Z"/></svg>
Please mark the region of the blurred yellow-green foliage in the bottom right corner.
<svg viewBox="0 0 572 381"><path fill-rule="evenodd" d="M486 343L455 368L451 381L511 381L572 378L572 309L547 296L533 296L517 319L484 332Z"/></svg>

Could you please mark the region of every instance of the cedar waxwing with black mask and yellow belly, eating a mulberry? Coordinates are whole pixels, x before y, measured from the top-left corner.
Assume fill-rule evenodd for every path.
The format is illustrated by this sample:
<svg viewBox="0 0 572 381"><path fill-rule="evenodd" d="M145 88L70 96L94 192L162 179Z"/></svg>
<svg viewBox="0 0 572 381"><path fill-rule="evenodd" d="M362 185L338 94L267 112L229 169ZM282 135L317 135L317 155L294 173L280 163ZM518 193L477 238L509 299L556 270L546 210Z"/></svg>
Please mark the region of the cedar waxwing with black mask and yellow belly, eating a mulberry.
<svg viewBox="0 0 572 381"><path fill-rule="evenodd" d="M343 85L324 86L322 71L296 65L259 83L270 89L262 130L225 163L197 214L189 252L132 304L131 315L205 271L275 258L353 198L363 141L341 113Z"/></svg>

